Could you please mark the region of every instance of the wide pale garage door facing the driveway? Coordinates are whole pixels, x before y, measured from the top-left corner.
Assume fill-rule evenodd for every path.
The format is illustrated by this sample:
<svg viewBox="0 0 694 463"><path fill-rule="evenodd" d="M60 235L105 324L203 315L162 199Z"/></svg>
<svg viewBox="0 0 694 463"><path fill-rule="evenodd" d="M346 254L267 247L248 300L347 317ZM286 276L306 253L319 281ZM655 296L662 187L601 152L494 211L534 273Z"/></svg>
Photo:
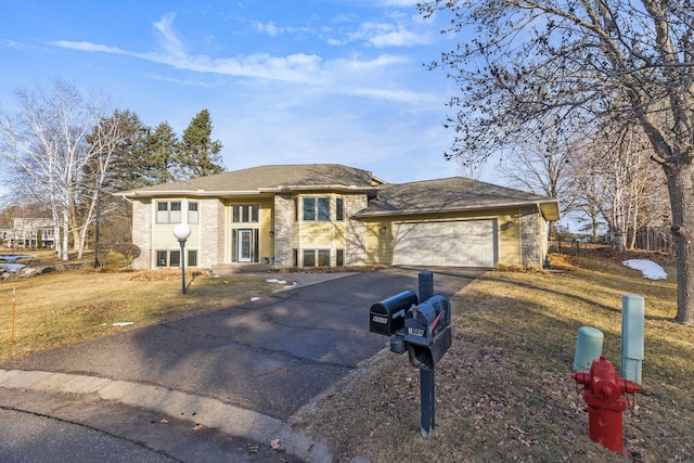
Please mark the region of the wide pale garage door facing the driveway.
<svg viewBox="0 0 694 463"><path fill-rule="evenodd" d="M396 224L396 266L493 267L496 220Z"/></svg>

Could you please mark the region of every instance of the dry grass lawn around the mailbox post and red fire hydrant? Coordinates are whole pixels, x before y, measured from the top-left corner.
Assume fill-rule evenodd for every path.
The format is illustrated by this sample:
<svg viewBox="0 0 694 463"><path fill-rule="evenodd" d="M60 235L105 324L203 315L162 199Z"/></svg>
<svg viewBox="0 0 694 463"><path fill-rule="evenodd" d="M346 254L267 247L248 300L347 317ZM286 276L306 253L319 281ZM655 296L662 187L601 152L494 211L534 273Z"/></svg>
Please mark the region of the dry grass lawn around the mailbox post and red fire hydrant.
<svg viewBox="0 0 694 463"><path fill-rule="evenodd" d="M647 256L646 256L647 258ZM331 442L337 461L624 462L588 437L570 378L580 326L603 331L618 369L621 297L645 297L643 390L624 414L634 462L694 461L694 329L672 323L667 281L605 259L564 273L490 271L453 299L453 346L436 366L436 432L420 435L419 370L387 349L307 407L295 426ZM365 316L364 316L365 317ZM617 370L618 371L618 370Z"/></svg>

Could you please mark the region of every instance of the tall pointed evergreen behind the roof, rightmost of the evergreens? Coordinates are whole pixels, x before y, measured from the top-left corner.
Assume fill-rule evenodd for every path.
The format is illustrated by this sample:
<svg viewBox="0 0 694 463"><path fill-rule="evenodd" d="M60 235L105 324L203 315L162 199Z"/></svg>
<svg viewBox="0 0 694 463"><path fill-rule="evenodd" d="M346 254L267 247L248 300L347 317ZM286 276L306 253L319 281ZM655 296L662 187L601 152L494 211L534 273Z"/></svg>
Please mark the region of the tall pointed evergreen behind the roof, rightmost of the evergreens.
<svg viewBox="0 0 694 463"><path fill-rule="evenodd" d="M223 172L219 152L222 144L211 140L213 123L209 112L203 110L195 115L183 131L179 163L184 178L204 177Z"/></svg>

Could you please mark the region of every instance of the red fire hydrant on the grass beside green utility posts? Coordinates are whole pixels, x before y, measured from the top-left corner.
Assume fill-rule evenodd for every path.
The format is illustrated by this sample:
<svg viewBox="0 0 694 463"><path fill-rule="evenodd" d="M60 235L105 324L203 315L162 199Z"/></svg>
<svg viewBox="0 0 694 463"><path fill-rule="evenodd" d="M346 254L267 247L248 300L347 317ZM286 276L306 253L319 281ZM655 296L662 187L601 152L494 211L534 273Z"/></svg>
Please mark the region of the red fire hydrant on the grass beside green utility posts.
<svg viewBox="0 0 694 463"><path fill-rule="evenodd" d="M621 413L627 410L628 402L624 395L635 394L641 387L618 377L615 366L603 356L593 360L590 372L574 373L571 377L583 385L591 440L627 456Z"/></svg>

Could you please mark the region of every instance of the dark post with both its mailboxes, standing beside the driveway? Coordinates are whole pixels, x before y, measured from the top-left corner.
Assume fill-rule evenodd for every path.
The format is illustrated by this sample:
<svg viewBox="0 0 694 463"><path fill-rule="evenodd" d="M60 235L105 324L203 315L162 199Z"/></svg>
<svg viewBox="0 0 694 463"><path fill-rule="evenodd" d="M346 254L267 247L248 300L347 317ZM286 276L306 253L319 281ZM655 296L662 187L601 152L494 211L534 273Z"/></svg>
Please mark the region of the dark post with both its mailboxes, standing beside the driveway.
<svg viewBox="0 0 694 463"><path fill-rule="evenodd" d="M430 438L436 422L434 368L451 347L451 309L448 298L434 294L434 273L420 272L417 296L406 291L371 306L369 331L390 336L390 351L408 352L420 369L421 432Z"/></svg>

